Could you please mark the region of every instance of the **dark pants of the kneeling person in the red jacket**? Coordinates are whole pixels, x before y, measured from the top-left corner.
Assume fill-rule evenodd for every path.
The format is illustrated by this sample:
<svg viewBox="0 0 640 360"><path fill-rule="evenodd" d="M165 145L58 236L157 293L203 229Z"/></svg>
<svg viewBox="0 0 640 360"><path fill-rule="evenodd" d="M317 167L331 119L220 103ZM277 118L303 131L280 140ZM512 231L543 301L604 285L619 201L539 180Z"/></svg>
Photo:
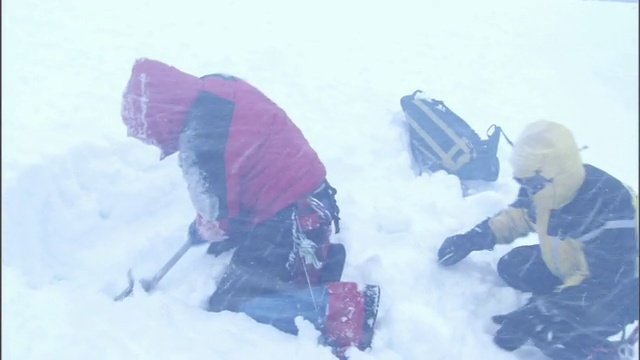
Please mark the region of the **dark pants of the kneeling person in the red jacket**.
<svg viewBox="0 0 640 360"><path fill-rule="evenodd" d="M345 260L344 247L329 244L331 222L336 220L331 216L337 217L338 212L334 194L335 189L328 186L313 195L330 216L313 229L302 231L300 227L299 216L306 215L309 209L292 204L243 234L209 299L209 310L237 312L243 303L259 296L296 292L339 281ZM322 263L321 269L303 262L294 240L300 236L317 246L315 255Z"/></svg>

